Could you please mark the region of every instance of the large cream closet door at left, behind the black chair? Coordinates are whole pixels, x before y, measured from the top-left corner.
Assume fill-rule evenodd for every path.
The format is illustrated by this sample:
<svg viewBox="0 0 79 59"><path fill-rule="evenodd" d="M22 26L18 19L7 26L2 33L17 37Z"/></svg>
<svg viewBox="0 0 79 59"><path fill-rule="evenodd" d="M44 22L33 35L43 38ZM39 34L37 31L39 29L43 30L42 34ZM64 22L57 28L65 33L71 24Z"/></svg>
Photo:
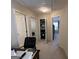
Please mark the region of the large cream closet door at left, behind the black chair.
<svg viewBox="0 0 79 59"><path fill-rule="evenodd" d="M15 15L16 15L19 46L22 46L24 44L24 40L26 37L25 17L24 15L18 12L16 12Z"/></svg>

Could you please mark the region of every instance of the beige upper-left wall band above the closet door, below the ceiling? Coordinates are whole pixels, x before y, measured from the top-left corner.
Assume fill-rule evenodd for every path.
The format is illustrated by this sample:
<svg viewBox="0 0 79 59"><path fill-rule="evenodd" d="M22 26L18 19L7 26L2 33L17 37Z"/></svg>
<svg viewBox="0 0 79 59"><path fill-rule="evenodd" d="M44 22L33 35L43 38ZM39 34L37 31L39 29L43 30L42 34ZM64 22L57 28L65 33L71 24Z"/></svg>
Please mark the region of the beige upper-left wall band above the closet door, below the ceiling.
<svg viewBox="0 0 79 59"><path fill-rule="evenodd" d="M19 4L16 0L12 0L12 4L14 5L14 8L21 13L23 13L26 16L36 16L36 13L30 10L27 7L24 7L23 5Z"/></svg>

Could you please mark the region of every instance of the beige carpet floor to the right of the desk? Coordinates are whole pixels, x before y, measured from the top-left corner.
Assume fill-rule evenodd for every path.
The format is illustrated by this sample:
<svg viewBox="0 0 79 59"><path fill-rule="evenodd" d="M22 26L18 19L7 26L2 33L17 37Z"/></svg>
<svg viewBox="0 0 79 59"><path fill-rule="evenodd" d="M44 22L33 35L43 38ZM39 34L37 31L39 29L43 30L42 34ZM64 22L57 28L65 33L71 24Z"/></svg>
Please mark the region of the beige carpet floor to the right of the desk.
<svg viewBox="0 0 79 59"><path fill-rule="evenodd" d="M40 59L67 59L64 51L52 42L38 42L37 49L40 49Z"/></svg>

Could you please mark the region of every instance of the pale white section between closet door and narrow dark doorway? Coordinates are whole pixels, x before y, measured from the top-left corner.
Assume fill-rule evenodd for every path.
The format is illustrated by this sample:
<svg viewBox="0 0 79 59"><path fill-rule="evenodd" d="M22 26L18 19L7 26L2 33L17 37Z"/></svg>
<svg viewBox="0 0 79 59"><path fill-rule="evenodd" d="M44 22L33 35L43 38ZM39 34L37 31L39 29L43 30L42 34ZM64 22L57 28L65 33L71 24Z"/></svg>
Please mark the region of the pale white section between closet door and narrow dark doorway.
<svg viewBox="0 0 79 59"><path fill-rule="evenodd" d="M32 32L35 32L35 34L36 34L36 19L35 19L35 17L26 16L26 23L27 23L28 36L32 36Z"/></svg>

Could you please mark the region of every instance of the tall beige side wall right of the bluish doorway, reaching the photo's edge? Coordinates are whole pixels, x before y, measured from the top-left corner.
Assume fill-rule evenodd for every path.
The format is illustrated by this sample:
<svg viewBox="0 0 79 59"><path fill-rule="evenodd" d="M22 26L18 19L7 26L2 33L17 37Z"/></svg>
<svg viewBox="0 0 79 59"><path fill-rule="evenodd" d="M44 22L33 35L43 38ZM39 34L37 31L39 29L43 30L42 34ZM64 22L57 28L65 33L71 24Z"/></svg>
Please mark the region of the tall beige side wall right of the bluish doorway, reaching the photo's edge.
<svg viewBox="0 0 79 59"><path fill-rule="evenodd" d="M60 28L60 46L65 50L68 56L68 11L67 7L62 10L62 21Z"/></svg>

